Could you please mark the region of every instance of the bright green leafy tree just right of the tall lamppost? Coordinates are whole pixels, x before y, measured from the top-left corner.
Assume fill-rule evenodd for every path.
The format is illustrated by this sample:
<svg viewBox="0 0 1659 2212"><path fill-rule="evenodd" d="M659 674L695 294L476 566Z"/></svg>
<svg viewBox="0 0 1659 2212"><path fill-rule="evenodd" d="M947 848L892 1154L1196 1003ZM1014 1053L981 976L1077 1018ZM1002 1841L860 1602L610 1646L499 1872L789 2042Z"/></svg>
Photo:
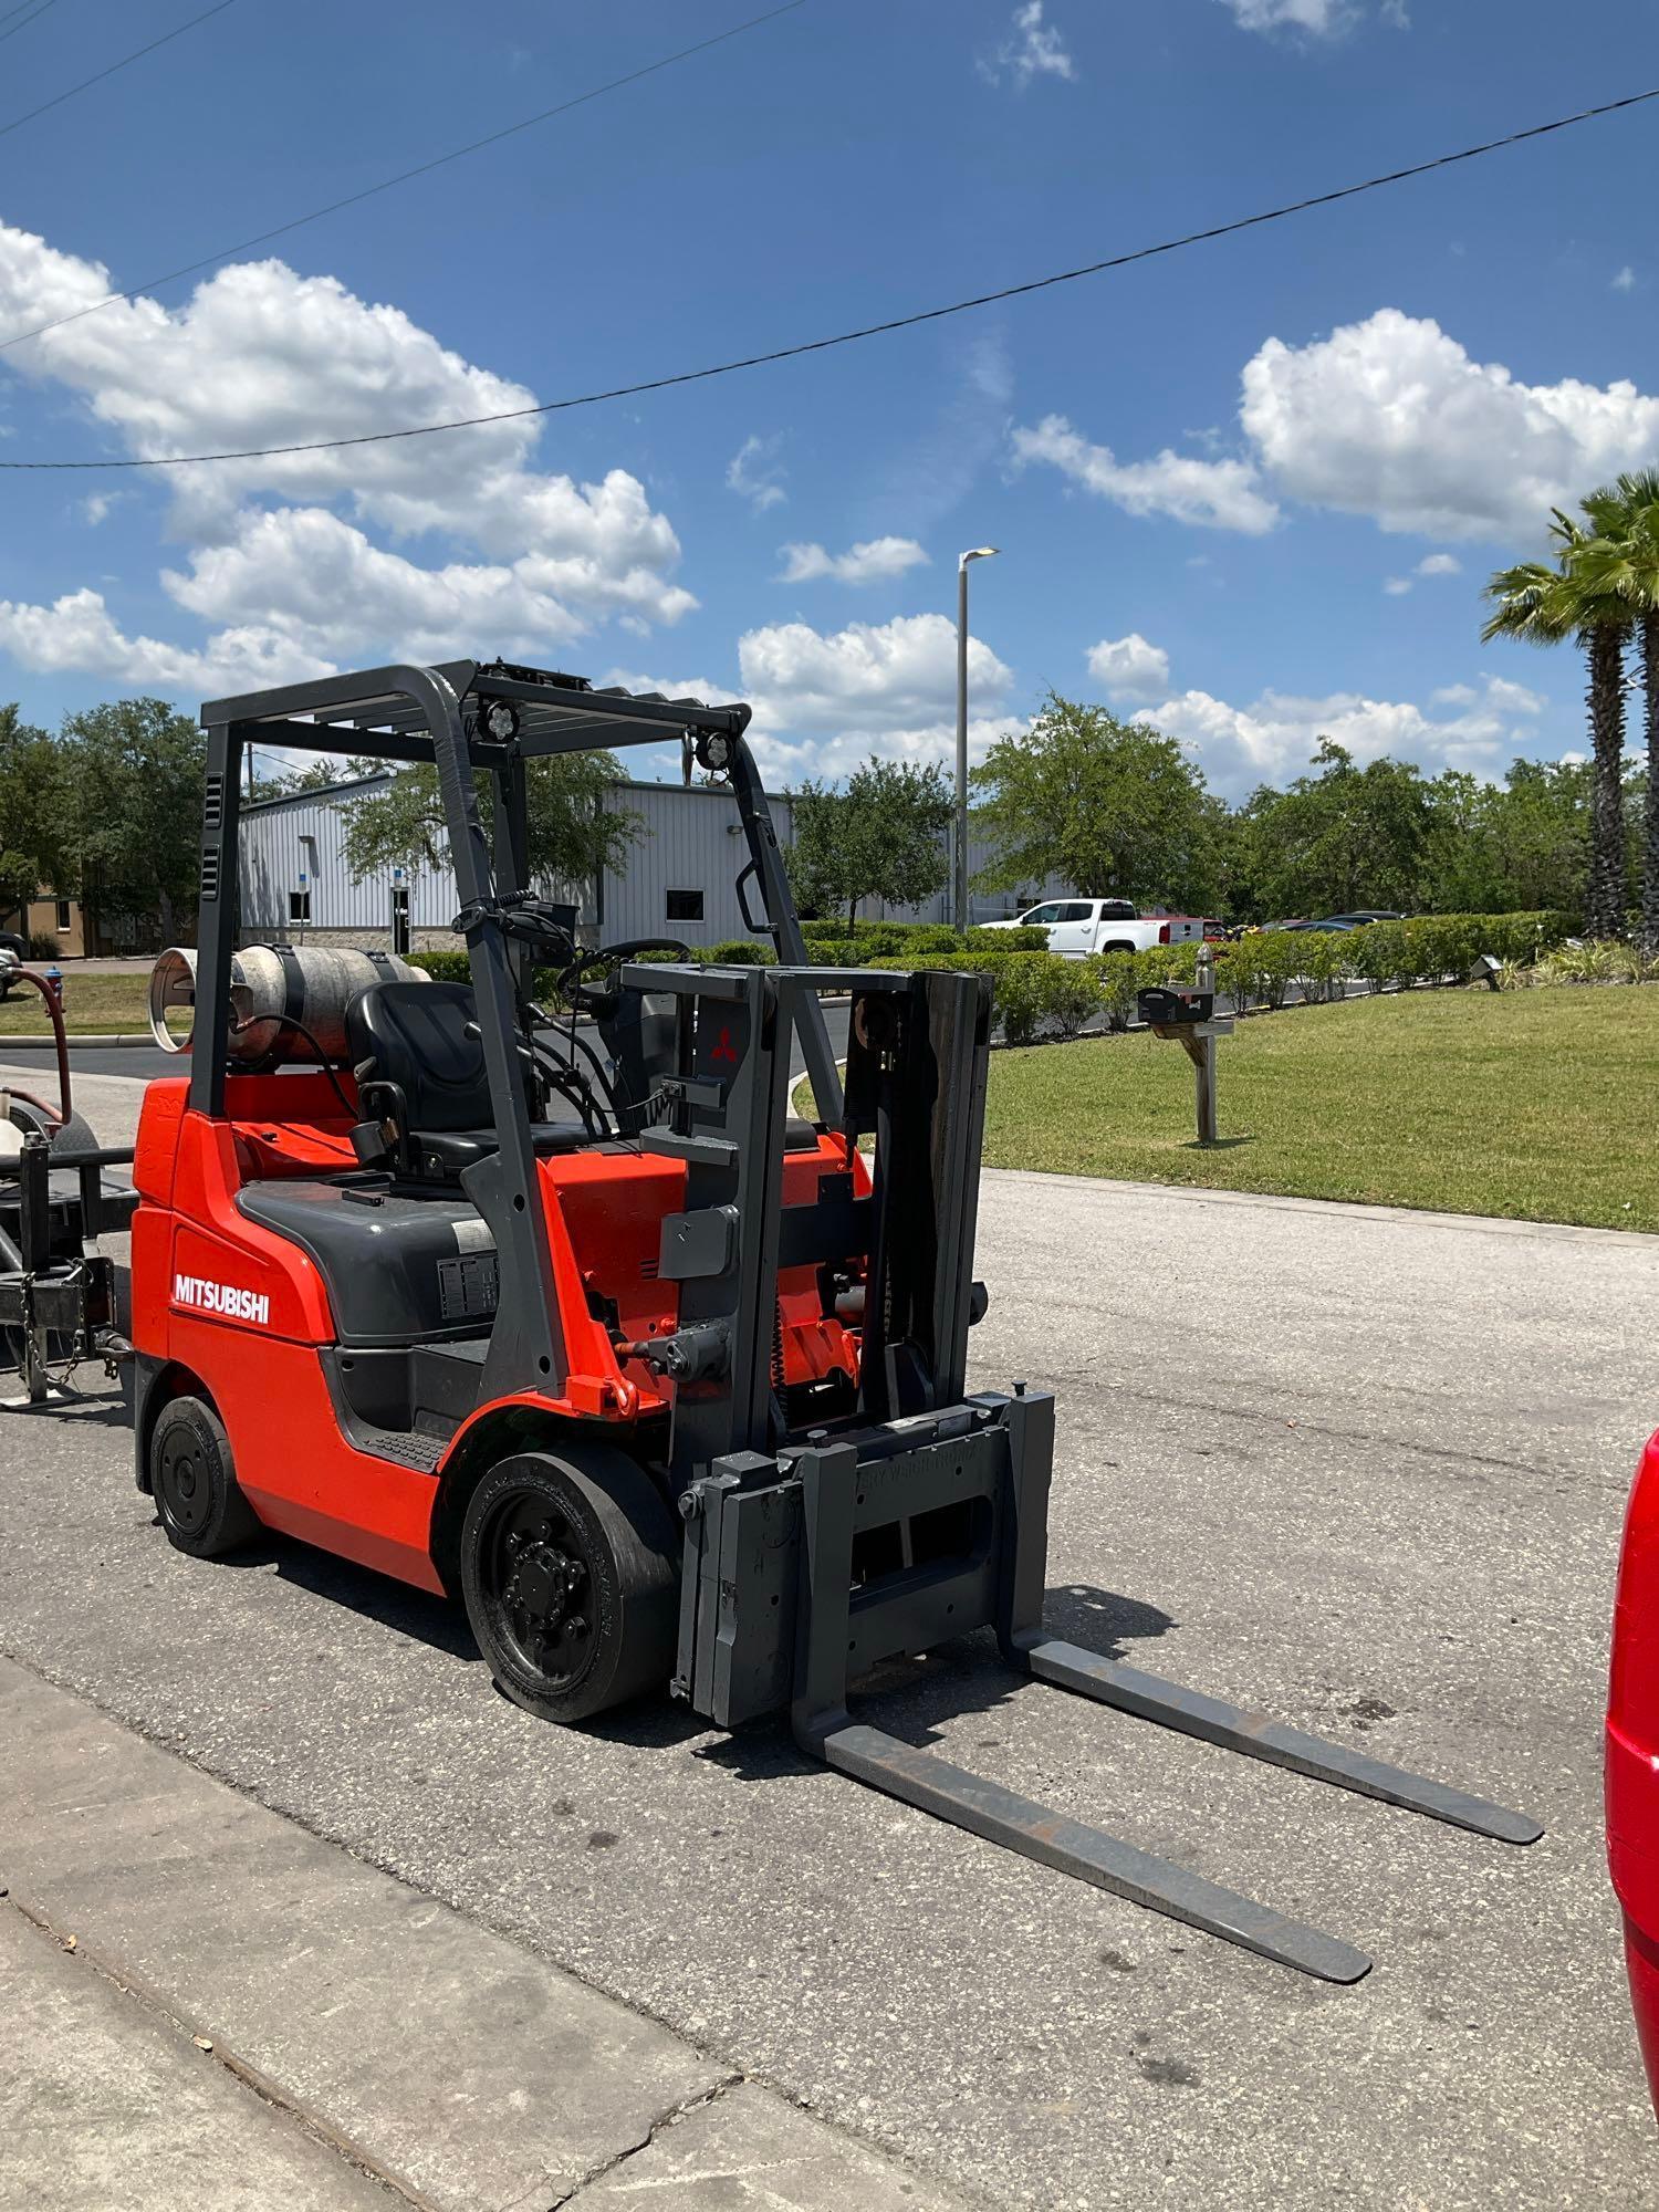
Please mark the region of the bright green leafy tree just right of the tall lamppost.
<svg viewBox="0 0 1659 2212"><path fill-rule="evenodd" d="M973 770L975 827L993 847L978 883L1051 876L1091 898L1203 909L1221 880L1223 810L1172 737L1048 692L1031 730Z"/></svg>

